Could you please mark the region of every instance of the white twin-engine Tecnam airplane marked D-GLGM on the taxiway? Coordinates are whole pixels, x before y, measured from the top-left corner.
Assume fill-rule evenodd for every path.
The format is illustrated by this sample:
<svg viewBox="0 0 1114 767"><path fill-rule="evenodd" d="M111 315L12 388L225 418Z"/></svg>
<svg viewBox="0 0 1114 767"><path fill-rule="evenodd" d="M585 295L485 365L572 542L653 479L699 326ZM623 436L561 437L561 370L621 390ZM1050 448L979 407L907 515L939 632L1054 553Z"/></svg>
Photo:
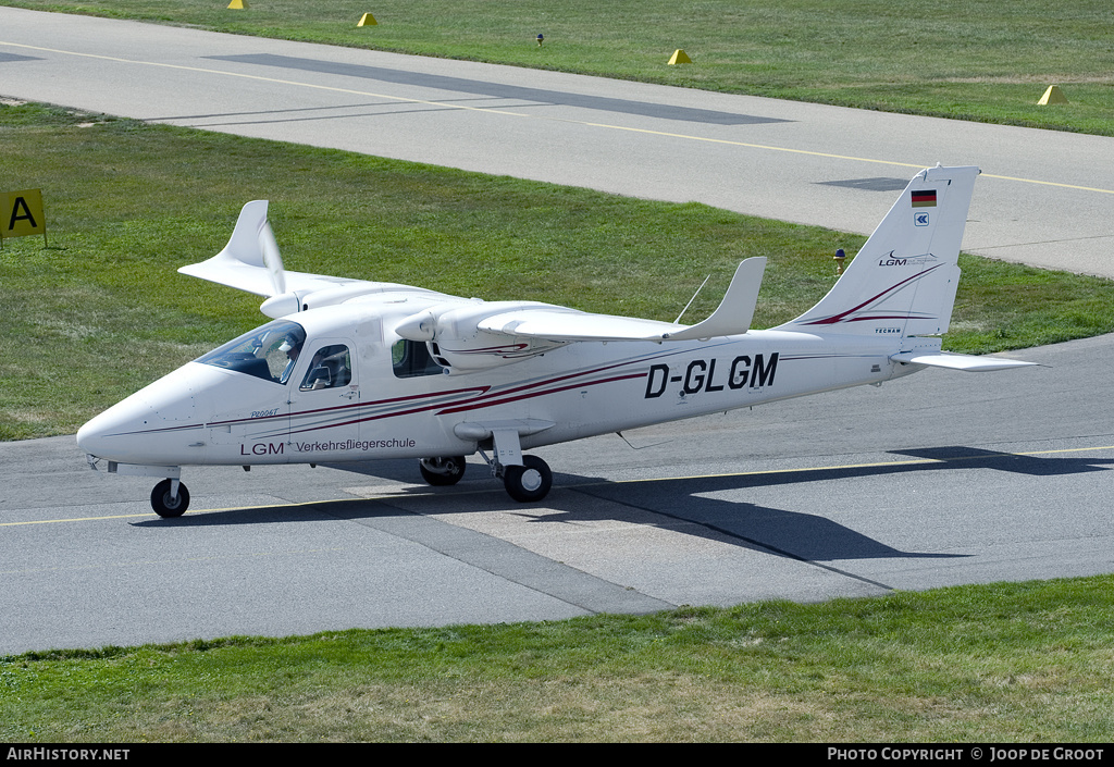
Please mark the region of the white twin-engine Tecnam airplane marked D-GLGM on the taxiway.
<svg viewBox="0 0 1114 767"><path fill-rule="evenodd" d="M750 329L764 258L683 326L286 272L266 201L251 202L221 253L178 271L265 295L276 319L97 416L77 441L95 468L166 477L152 505L167 517L189 503L182 466L419 458L428 483L451 485L477 452L531 502L553 475L528 448L926 366L1029 365L940 351L978 173L918 173L820 303L770 330Z"/></svg>

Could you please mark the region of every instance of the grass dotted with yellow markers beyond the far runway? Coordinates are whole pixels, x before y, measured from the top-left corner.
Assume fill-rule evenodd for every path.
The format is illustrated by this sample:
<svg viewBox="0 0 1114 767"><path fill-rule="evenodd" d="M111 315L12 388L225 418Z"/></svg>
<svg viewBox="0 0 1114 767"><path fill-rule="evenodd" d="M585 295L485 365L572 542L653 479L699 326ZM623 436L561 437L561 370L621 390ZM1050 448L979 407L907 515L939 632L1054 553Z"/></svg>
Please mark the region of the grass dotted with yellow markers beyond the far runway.
<svg viewBox="0 0 1114 767"><path fill-rule="evenodd" d="M1114 135L1110 0L3 0L39 10ZM356 28L369 9L379 25ZM538 47L536 36L545 35ZM668 66L683 48L691 65ZM1048 85L1069 104L1040 107Z"/></svg>

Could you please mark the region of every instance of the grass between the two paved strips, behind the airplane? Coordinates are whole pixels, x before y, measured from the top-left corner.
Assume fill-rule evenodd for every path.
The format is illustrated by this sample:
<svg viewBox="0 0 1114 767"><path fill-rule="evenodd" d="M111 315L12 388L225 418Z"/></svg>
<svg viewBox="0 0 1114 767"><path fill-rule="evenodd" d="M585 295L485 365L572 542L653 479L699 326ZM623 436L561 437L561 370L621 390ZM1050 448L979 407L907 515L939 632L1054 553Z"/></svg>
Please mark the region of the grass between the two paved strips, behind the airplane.
<svg viewBox="0 0 1114 767"><path fill-rule="evenodd" d="M0 106L7 188L42 188L42 237L0 250L0 438L71 434L265 319L178 274L268 197L286 266L673 320L710 313L766 255L755 327L831 287L859 235L35 105ZM1114 330L1114 283L962 256L946 347L988 352Z"/></svg>

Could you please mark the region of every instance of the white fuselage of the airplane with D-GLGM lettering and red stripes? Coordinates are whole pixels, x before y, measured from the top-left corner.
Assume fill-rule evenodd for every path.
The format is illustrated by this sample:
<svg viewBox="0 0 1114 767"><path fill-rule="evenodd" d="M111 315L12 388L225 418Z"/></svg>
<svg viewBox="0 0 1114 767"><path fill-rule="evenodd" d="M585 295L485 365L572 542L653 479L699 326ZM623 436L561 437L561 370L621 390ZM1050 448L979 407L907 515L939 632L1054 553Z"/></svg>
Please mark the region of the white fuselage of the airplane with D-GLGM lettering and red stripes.
<svg viewBox="0 0 1114 767"><path fill-rule="evenodd" d="M78 433L95 456L130 464L251 465L470 455L453 427L509 419L551 421L522 447L876 384L919 369L889 357L901 339L750 331L687 342L580 342L496 367L397 378L392 328L421 311L421 295L314 309L287 384L189 362ZM300 391L309 351L344 342L353 379L342 390ZM839 351L833 351L838 349Z"/></svg>

